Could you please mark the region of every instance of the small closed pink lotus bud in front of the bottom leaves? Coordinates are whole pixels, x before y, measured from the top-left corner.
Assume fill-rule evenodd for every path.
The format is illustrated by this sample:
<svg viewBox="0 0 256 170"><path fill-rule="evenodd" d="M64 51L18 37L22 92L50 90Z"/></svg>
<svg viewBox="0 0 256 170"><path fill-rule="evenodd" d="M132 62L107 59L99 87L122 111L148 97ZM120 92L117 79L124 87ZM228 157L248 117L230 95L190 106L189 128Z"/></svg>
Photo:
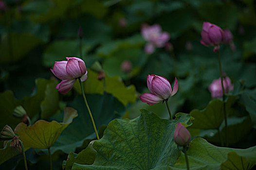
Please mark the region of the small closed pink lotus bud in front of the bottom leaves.
<svg viewBox="0 0 256 170"><path fill-rule="evenodd" d="M178 146L187 146L190 142L190 133L180 122L178 122L178 125L176 126L173 139Z"/></svg>

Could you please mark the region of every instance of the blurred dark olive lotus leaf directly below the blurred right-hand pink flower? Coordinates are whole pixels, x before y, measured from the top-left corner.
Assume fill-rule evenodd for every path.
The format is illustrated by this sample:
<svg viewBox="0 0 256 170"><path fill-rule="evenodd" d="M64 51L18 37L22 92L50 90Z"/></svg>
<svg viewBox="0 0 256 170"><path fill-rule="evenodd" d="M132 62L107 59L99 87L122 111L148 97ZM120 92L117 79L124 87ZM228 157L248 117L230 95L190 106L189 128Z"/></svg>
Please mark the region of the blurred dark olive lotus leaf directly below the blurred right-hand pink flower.
<svg viewBox="0 0 256 170"><path fill-rule="evenodd" d="M226 113L231 114L232 104L237 100L237 96L229 96L226 103ZM218 129L224 119L223 101L210 101L207 107L203 110L194 109L190 115L195 118L193 128L199 129Z"/></svg>

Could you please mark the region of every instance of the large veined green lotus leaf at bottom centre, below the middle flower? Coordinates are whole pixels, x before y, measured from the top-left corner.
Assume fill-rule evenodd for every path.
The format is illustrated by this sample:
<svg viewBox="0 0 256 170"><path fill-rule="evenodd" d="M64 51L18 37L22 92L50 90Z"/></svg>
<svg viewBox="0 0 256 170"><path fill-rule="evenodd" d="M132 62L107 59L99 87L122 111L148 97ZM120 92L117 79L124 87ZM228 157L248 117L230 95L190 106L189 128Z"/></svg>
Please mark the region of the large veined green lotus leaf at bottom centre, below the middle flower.
<svg viewBox="0 0 256 170"><path fill-rule="evenodd" d="M152 170L168 169L179 156L173 133L178 121L191 124L191 116L179 113L175 120L161 119L141 109L132 120L114 119L95 141L93 165L74 164L73 170ZM186 125L188 126L188 125Z"/></svg>

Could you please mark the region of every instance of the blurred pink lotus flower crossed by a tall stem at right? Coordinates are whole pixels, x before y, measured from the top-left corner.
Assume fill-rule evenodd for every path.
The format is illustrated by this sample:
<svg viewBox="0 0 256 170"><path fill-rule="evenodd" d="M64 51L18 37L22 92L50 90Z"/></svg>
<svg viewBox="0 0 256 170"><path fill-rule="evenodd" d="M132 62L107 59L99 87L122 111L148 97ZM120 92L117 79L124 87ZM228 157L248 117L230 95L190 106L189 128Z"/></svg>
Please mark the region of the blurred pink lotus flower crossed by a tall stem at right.
<svg viewBox="0 0 256 170"><path fill-rule="evenodd" d="M234 85L231 84L229 77L223 78L223 86L225 93L234 89ZM212 84L209 85L209 91L211 92L212 98L220 98L223 96L220 78L213 80Z"/></svg>

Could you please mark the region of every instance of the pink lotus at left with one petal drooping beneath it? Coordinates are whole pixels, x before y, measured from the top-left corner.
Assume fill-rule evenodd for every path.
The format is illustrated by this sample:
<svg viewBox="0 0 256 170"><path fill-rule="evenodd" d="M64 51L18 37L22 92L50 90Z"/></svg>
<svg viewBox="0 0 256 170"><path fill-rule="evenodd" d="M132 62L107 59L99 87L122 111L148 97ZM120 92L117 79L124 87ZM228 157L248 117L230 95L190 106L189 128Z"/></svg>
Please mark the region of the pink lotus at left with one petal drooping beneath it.
<svg viewBox="0 0 256 170"><path fill-rule="evenodd" d="M56 85L59 93L68 93L77 78L82 82L87 79L87 69L82 59L76 57L66 57L68 61L55 61L54 69L51 71L62 81Z"/></svg>

